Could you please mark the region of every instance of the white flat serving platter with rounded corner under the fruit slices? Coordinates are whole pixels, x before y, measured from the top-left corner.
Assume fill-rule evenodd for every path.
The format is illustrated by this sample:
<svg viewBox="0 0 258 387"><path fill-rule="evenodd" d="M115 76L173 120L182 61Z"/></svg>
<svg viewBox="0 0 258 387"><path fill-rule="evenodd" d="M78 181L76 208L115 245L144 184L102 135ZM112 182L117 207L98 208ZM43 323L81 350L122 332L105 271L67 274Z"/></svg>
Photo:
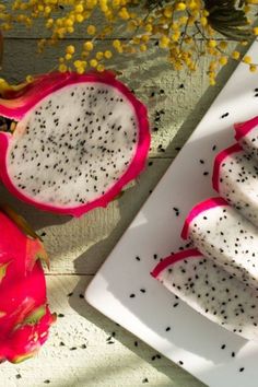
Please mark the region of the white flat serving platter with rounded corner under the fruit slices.
<svg viewBox="0 0 258 387"><path fill-rule="evenodd" d="M258 43L248 55L258 57ZM85 293L91 305L210 387L257 387L258 342L178 303L150 271L184 245L179 234L190 208L216 196L214 155L233 143L234 122L258 115L256 87L258 75L239 64Z"/></svg>

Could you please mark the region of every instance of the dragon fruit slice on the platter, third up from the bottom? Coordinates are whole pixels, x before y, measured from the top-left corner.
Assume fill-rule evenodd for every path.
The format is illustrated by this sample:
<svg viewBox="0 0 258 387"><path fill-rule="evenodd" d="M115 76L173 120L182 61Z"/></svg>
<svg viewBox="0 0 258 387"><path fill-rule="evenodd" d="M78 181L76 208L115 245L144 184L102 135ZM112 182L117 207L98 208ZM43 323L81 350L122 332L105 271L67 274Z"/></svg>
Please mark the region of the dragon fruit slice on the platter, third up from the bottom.
<svg viewBox="0 0 258 387"><path fill-rule="evenodd" d="M238 143L218 154L212 183L222 198L258 226L258 166Z"/></svg>

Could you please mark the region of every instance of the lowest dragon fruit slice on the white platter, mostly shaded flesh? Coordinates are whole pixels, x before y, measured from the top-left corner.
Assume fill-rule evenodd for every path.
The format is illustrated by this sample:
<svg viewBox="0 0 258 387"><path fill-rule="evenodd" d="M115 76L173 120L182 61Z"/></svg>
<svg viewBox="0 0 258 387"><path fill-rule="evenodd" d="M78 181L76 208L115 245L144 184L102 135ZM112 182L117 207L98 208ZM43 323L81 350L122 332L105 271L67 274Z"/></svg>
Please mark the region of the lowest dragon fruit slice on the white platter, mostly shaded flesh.
<svg viewBox="0 0 258 387"><path fill-rule="evenodd" d="M152 271L171 292L230 331L258 340L258 292L196 249L163 259Z"/></svg>

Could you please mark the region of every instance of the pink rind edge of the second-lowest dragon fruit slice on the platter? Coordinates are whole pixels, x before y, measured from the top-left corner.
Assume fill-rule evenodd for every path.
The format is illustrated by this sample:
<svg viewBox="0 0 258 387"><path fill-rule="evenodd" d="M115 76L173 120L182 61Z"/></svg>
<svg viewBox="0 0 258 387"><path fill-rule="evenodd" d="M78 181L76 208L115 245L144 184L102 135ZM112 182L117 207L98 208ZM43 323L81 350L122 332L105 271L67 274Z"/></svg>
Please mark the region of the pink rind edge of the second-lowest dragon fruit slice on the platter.
<svg viewBox="0 0 258 387"><path fill-rule="evenodd" d="M210 198L207 199L200 203L198 203L197 206L195 206L190 212L188 213L183 230L181 230L181 237L183 239L187 239L189 236L189 226L191 224L191 222L195 220L196 216L198 216L200 213L208 211L210 209L213 209L215 207L221 207L221 206L226 206L228 207L230 204L220 197L216 198Z"/></svg>

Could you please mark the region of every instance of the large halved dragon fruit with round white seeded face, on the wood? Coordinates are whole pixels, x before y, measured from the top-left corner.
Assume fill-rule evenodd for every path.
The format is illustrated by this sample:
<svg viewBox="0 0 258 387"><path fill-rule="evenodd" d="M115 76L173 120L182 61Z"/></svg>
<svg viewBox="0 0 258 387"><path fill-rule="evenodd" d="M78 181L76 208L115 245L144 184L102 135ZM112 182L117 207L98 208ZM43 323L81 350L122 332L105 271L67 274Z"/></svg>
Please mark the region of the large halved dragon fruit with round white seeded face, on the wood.
<svg viewBox="0 0 258 387"><path fill-rule="evenodd" d="M0 177L17 198L80 216L106 207L143 169L145 107L110 72L42 75L0 99Z"/></svg>

